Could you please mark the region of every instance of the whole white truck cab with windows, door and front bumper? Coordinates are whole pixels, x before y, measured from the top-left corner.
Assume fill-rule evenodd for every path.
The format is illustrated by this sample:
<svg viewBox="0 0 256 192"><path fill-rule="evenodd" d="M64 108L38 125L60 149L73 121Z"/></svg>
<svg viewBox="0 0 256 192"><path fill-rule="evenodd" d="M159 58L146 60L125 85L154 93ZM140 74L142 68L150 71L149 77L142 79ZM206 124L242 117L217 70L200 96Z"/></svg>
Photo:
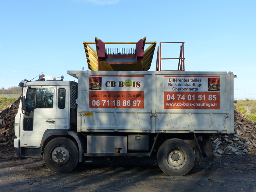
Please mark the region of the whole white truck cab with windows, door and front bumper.
<svg viewBox="0 0 256 192"><path fill-rule="evenodd" d="M76 106L70 107L72 81L22 81L22 102L15 121L14 146L22 157L40 157L44 140L53 134L66 135L76 124ZM76 102L76 92L73 102ZM20 102L20 105L22 104ZM24 113L23 111L26 111Z"/></svg>

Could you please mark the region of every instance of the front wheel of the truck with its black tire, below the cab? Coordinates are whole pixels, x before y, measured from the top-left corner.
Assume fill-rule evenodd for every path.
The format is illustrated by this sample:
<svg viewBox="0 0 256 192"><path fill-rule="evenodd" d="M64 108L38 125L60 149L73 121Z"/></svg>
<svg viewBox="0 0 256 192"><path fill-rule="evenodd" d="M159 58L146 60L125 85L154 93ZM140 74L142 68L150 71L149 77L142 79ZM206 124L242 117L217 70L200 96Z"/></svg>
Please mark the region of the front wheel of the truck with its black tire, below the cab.
<svg viewBox="0 0 256 192"><path fill-rule="evenodd" d="M65 137L51 140L44 149L44 163L56 173L72 171L78 164L78 157L75 142Z"/></svg>

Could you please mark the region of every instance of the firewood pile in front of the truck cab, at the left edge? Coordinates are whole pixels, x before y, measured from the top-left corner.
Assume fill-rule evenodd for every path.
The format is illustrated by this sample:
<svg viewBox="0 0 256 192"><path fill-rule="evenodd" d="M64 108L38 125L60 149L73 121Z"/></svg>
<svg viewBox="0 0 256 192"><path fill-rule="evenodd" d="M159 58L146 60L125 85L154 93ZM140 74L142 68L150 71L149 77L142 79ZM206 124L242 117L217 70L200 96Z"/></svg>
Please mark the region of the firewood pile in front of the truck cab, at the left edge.
<svg viewBox="0 0 256 192"><path fill-rule="evenodd" d="M0 111L0 145L13 146L14 118L18 112L20 98L12 105Z"/></svg>

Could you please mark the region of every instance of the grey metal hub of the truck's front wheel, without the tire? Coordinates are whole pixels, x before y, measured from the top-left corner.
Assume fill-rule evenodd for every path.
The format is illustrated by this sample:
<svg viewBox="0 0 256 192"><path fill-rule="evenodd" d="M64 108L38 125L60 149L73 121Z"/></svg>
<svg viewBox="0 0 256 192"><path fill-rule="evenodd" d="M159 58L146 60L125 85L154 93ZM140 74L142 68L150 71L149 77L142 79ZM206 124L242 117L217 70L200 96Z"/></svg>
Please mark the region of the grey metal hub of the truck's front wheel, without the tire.
<svg viewBox="0 0 256 192"><path fill-rule="evenodd" d="M70 159L70 152L64 146L54 148L52 151L52 160L56 164L64 164Z"/></svg>

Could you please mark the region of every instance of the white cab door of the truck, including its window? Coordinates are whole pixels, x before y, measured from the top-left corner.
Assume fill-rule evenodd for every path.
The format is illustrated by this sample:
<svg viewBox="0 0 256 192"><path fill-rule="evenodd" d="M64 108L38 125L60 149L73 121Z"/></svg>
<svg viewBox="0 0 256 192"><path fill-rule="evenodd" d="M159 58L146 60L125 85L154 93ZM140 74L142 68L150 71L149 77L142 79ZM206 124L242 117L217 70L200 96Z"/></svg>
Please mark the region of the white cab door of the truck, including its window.
<svg viewBox="0 0 256 192"><path fill-rule="evenodd" d="M56 129L56 86L38 86L27 90L20 146L39 147L47 129Z"/></svg>

